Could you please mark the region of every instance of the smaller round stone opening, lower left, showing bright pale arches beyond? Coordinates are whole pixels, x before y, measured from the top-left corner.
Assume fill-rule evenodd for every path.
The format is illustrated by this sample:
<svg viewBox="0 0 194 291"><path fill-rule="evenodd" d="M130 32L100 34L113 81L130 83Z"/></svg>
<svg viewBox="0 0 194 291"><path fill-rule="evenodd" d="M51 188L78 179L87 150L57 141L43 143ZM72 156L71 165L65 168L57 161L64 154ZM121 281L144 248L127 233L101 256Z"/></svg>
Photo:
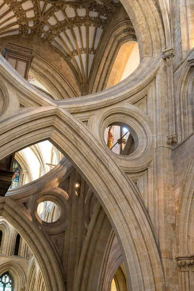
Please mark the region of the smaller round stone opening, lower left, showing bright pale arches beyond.
<svg viewBox="0 0 194 291"><path fill-rule="evenodd" d="M48 223L57 221L61 216L59 207L52 201L39 203L37 213L40 219Z"/></svg>

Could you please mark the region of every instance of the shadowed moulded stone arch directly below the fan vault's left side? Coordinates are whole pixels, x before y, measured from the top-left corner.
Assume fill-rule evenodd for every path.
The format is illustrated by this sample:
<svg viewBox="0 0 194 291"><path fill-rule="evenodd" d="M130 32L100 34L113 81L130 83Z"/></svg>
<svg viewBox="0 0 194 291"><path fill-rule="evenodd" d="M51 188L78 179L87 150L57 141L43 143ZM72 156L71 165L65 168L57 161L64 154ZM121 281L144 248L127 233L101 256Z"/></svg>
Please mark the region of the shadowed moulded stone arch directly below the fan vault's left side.
<svg viewBox="0 0 194 291"><path fill-rule="evenodd" d="M8 42L33 49L34 60L32 61L31 70L34 77L40 81L46 89L48 89L55 99L57 99L57 96L58 99L81 96L81 86L72 69L65 62L63 56L61 56L60 53L55 51L48 44L43 44L39 39L24 35L7 36L1 38L0 41L1 54L3 54L3 50ZM45 68L42 71L43 65ZM51 73L49 74L49 66L51 65L53 67ZM57 70L56 73L54 73L54 69ZM42 77L44 76L44 78L42 78L41 75ZM56 91L56 89L53 89L54 83L57 81L59 82L59 92ZM53 86L51 86L51 83L53 83Z"/></svg>

